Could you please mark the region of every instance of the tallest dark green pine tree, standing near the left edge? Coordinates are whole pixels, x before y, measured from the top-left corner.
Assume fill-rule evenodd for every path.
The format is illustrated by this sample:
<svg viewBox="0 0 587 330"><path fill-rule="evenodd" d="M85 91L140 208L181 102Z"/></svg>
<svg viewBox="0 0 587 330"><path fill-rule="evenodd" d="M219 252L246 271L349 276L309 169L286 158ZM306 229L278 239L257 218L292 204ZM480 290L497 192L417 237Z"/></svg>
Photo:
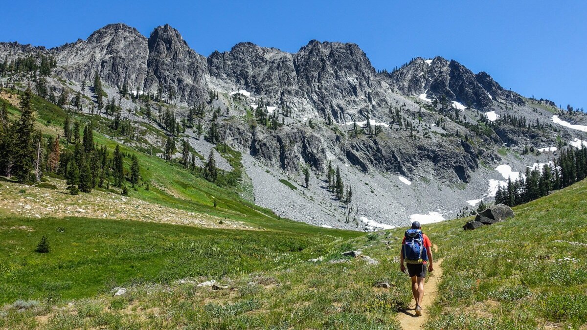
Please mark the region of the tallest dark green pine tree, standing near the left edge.
<svg viewBox="0 0 587 330"><path fill-rule="evenodd" d="M33 156L36 154L33 146L35 115L31 105L31 95L31 87L29 87L22 96L21 117L16 122L14 174L21 183L28 182L31 179Z"/></svg>

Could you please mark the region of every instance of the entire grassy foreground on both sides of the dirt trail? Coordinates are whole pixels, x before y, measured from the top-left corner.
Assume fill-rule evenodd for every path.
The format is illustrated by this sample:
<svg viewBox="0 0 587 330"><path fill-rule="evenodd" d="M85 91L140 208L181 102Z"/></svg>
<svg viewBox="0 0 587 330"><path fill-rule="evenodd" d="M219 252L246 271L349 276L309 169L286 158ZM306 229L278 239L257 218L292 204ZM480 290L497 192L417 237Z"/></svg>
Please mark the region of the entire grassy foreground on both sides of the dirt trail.
<svg viewBox="0 0 587 330"><path fill-rule="evenodd" d="M425 225L443 258L426 327L584 326L586 200L581 181L478 230L462 230L468 218ZM22 298L2 309L4 328L387 329L401 326L396 314L410 301L397 262L403 228L351 238L299 235L298 224L261 232L85 218L0 224L2 299ZM49 254L33 252L42 234ZM342 257L353 249L369 258ZM209 280L228 289L198 285Z"/></svg>

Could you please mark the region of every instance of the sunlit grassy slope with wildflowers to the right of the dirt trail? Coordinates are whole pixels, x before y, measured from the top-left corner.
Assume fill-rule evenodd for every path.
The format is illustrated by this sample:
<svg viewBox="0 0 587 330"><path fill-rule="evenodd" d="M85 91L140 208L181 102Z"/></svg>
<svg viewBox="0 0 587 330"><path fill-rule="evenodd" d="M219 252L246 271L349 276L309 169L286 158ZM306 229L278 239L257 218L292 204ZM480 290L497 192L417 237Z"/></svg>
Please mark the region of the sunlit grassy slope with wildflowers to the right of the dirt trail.
<svg viewBox="0 0 587 330"><path fill-rule="evenodd" d="M444 280L430 329L576 328L587 323L587 181L514 208L514 219L464 232L430 226ZM479 312L479 311L483 312Z"/></svg>

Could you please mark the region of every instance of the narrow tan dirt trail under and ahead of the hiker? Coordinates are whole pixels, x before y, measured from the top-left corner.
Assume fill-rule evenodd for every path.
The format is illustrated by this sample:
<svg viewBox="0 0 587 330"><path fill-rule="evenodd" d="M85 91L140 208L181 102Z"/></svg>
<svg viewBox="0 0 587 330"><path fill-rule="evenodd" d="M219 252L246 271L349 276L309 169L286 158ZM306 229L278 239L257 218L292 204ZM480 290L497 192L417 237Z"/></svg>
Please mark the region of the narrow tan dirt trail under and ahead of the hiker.
<svg viewBox="0 0 587 330"><path fill-rule="evenodd" d="M434 246L436 250L436 245ZM423 329L424 324L428 321L430 314L429 309L434 299L438 295L438 284L442 277L442 259L434 261L434 271L428 274L428 281L424 285L424 298L422 298L422 316L416 316L416 302L411 298L410 308L397 312L397 321L400 322L405 330Z"/></svg>

